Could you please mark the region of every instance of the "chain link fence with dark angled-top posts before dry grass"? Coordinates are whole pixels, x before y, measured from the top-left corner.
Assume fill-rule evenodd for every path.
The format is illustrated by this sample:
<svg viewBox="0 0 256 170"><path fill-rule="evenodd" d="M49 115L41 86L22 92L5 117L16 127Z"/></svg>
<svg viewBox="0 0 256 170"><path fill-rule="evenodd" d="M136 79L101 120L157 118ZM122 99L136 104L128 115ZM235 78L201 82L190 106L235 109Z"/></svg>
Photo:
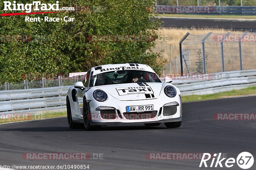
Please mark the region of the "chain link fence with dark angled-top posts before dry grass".
<svg viewBox="0 0 256 170"><path fill-rule="evenodd" d="M255 33L187 33L180 42L181 73L215 73L256 68Z"/></svg>

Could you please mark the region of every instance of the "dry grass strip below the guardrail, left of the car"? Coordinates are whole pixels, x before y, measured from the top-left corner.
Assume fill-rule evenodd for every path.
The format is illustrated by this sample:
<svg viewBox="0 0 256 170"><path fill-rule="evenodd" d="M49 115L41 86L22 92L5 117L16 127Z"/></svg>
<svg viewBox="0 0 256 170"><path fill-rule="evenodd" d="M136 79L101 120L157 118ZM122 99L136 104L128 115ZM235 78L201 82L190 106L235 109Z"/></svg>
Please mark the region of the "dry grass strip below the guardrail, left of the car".
<svg viewBox="0 0 256 170"><path fill-rule="evenodd" d="M55 117L65 117L66 112L54 112L54 113L43 113L43 114L1 114L0 124L8 122L20 122L28 120L48 119Z"/></svg>

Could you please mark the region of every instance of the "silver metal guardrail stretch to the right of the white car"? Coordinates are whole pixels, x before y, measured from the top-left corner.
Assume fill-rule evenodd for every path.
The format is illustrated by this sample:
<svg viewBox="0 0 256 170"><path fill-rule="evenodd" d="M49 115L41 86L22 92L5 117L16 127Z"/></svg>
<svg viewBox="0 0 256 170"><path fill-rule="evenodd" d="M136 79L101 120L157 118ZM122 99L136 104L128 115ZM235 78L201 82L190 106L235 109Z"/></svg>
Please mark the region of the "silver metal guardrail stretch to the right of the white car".
<svg viewBox="0 0 256 170"><path fill-rule="evenodd" d="M206 79L195 79L198 77L206 77ZM239 90L256 85L256 70L226 71L205 74L204 76L176 77L172 84L180 89L182 95L213 94L233 89Z"/></svg>

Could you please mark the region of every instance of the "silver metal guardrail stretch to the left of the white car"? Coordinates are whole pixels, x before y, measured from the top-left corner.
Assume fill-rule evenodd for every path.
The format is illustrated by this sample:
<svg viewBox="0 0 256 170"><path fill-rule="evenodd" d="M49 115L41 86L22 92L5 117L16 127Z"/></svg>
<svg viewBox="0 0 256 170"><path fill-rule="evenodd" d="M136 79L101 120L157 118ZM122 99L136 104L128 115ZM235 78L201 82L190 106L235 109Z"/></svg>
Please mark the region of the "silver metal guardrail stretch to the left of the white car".
<svg viewBox="0 0 256 170"><path fill-rule="evenodd" d="M64 110L69 87L0 91L0 114Z"/></svg>

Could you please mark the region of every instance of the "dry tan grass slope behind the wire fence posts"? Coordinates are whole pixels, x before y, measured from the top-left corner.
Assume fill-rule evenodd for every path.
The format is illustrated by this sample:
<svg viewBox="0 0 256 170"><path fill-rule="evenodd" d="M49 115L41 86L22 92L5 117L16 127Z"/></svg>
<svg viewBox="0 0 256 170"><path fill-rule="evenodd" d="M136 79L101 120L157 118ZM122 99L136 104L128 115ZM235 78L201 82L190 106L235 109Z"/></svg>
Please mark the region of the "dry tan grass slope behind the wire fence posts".
<svg viewBox="0 0 256 170"><path fill-rule="evenodd" d="M189 32L192 35L189 35L184 43L190 43L189 45L183 45L183 48L189 49L191 64L191 72L195 70L195 62L196 61L196 52L198 52L199 48L202 48L201 40L204 36L212 32L211 36L207 39L209 42L205 43L205 51L207 57L207 72L219 72L221 71L221 51L220 51L220 42L213 41L213 36L216 34L224 34L227 33L227 30L222 29L181 29L181 28L163 28L159 31L160 35L169 36L168 40L163 42L164 49L164 59L167 59L167 63L165 64L165 72L169 71L169 62L172 63L172 72L176 72L175 67L175 57L177 57L178 61L178 70L180 70L180 49L179 49L179 41L182 37ZM229 31L230 32L230 31ZM215 34L214 34L215 33ZM242 31L232 31L232 34L243 34ZM193 36L198 35L198 36ZM196 44L191 44L196 42ZM170 45L172 45L172 57L170 52ZM229 70L239 70L239 46L238 42L224 42L224 51L225 51L225 67L226 71ZM247 65L248 69L253 69L255 66L251 63L256 60L252 58L252 56L256 56L256 47L255 42L242 42L242 55L243 64ZM155 52L161 51L161 41L156 42ZM256 61L255 61L256 64Z"/></svg>

